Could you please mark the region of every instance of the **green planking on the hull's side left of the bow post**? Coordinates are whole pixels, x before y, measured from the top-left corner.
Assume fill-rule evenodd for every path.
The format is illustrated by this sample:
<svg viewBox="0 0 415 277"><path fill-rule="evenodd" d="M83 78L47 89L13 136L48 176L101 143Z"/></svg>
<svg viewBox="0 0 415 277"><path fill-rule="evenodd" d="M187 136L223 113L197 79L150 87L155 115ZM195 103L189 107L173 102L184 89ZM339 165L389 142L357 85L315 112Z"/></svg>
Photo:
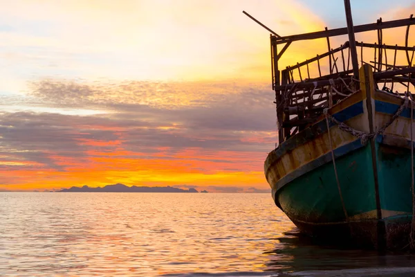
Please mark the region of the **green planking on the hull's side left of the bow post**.
<svg viewBox="0 0 415 277"><path fill-rule="evenodd" d="M349 216L376 209L370 147L336 159L340 188ZM289 217L305 222L346 220L333 163L326 163L286 184L277 200Z"/></svg>

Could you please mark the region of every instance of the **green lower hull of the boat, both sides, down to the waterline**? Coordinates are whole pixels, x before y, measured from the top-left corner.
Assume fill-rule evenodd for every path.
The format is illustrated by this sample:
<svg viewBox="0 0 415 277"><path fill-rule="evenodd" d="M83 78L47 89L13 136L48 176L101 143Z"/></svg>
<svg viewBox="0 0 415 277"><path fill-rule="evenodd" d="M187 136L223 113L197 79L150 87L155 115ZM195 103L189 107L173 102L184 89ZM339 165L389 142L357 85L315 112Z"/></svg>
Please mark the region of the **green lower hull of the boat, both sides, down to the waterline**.
<svg viewBox="0 0 415 277"><path fill-rule="evenodd" d="M331 161L277 190L277 206L299 229L313 236L350 239L375 248L405 247L412 220L411 153L380 141L376 141L375 149L381 217L376 209L370 143L335 159L349 221Z"/></svg>

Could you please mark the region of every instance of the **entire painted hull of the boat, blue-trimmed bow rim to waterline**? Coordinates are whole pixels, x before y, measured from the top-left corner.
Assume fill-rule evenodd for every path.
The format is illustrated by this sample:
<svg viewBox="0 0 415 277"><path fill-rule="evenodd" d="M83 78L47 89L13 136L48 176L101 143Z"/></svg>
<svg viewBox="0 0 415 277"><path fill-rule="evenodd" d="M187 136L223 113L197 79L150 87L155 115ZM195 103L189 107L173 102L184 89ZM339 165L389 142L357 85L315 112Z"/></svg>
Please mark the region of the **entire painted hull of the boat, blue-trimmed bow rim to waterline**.
<svg viewBox="0 0 415 277"><path fill-rule="evenodd" d="M372 89L354 93L329 113L369 133L370 120L378 129L400 105L403 99ZM327 129L322 117L268 154L264 170L275 204L318 238L376 249L406 247L412 222L411 124L405 108L385 132L365 142L333 122Z"/></svg>

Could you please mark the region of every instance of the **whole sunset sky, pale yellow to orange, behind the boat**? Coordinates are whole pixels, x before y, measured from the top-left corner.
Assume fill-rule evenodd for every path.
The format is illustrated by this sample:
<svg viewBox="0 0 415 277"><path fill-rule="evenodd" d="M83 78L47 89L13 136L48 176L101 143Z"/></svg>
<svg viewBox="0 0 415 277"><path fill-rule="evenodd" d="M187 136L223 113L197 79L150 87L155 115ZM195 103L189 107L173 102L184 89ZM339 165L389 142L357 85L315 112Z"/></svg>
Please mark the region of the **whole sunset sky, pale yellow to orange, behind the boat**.
<svg viewBox="0 0 415 277"><path fill-rule="evenodd" d="M0 190L268 191L269 33L242 10L279 35L346 26L340 0L0 3ZM415 13L410 0L351 7L354 24ZM296 42L282 64L325 51Z"/></svg>

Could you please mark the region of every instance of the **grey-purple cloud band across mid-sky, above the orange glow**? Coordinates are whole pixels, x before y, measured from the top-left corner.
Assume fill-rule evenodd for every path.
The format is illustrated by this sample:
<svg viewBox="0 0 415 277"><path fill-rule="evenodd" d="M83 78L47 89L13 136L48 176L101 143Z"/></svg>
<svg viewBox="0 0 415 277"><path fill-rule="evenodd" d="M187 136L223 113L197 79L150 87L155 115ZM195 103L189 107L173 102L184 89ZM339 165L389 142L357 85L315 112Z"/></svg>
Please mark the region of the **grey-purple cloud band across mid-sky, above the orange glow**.
<svg viewBox="0 0 415 277"><path fill-rule="evenodd" d="M245 136L269 140L261 132L275 129L273 92L263 85L255 89L234 83L89 86L42 80L32 88L30 99L35 99L36 106L106 111L89 116L29 111L0 114L1 152L59 171L66 168L54 156L87 163L90 150L122 148L148 153L150 158L158 148L171 148L172 154L187 148L266 152L273 145L244 140ZM118 144L110 143L114 141ZM226 161L223 158L210 161ZM223 191L232 189L239 191L223 187Z"/></svg>

